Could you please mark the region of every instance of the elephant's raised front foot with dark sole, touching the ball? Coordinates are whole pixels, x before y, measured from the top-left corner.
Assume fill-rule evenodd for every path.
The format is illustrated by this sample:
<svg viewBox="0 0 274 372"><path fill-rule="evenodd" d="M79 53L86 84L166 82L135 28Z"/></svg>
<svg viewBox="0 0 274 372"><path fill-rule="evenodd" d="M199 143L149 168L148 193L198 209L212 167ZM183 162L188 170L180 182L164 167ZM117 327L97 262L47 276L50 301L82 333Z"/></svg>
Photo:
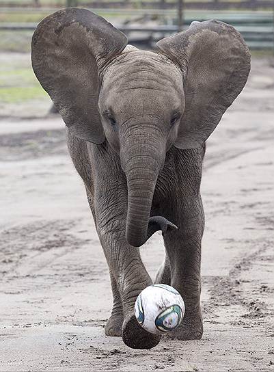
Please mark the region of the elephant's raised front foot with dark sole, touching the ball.
<svg viewBox="0 0 274 372"><path fill-rule="evenodd" d="M141 328L134 314L124 320L122 338L124 343L132 349L152 349L161 340L161 336L151 334Z"/></svg>

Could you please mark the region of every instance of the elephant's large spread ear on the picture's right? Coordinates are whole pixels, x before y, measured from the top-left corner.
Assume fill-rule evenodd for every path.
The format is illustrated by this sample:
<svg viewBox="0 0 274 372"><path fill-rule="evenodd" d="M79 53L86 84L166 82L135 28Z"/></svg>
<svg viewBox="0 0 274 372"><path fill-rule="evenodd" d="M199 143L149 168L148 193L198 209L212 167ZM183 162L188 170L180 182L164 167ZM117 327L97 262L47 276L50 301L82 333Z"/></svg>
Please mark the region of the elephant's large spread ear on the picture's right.
<svg viewBox="0 0 274 372"><path fill-rule="evenodd" d="M180 66L184 79L185 109L175 146L197 148L243 90L249 50L234 27L219 21L194 22L157 47Z"/></svg>

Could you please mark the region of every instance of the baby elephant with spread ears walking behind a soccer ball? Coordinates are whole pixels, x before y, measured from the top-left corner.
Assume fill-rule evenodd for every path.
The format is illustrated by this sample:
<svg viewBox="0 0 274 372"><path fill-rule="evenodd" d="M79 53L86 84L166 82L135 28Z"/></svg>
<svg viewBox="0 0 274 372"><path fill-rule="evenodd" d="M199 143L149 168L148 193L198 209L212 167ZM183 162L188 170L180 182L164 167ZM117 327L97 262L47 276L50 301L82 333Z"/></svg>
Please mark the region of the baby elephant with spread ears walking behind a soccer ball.
<svg viewBox="0 0 274 372"><path fill-rule="evenodd" d="M219 21L195 22L154 52L127 41L100 16L68 8L38 25L32 64L68 127L109 265L113 310L105 333L149 349L160 336L135 319L136 297L152 284L136 247L157 230L166 255L156 282L176 288L186 306L169 337L202 337L205 141L243 89L250 55L241 35Z"/></svg>

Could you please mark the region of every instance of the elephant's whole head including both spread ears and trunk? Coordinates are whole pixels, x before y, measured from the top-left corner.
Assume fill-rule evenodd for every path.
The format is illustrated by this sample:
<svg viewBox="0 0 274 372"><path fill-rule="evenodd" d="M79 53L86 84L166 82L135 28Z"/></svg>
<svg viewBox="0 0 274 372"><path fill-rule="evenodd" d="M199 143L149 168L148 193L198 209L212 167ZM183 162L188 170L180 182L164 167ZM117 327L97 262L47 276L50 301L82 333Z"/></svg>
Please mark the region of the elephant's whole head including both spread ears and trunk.
<svg viewBox="0 0 274 372"><path fill-rule="evenodd" d="M45 18L32 41L33 70L68 131L120 155L128 185L126 240L142 245L176 228L150 217L154 188L173 145L202 146L243 89L250 55L219 21L193 23L139 51L104 18L68 8Z"/></svg>

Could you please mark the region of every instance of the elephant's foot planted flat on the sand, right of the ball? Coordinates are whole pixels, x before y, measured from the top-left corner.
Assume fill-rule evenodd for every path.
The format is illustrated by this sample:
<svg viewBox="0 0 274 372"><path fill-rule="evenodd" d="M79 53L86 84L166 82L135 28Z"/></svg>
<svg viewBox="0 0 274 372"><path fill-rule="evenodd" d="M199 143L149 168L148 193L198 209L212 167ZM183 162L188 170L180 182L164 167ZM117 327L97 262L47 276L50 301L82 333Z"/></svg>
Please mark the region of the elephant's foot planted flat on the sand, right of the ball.
<svg viewBox="0 0 274 372"><path fill-rule="evenodd" d="M167 334L173 340L200 340L203 335L202 317L198 319L183 319L182 324L173 332Z"/></svg>

